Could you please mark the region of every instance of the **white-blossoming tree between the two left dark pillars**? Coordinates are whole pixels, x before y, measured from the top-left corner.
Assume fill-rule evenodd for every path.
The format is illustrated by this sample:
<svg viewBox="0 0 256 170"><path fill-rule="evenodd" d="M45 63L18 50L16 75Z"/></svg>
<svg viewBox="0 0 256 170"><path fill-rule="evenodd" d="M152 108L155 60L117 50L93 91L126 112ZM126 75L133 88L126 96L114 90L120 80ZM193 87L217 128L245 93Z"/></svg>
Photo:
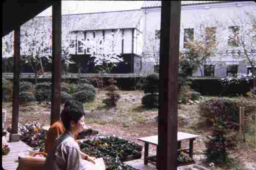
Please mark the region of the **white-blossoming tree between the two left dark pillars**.
<svg viewBox="0 0 256 170"><path fill-rule="evenodd" d="M25 62L28 62L35 72L35 83L39 71L44 75L42 58L51 62L52 46L52 25L49 22L50 17L37 17L29 20L21 26L20 54L25 56Z"/></svg>

